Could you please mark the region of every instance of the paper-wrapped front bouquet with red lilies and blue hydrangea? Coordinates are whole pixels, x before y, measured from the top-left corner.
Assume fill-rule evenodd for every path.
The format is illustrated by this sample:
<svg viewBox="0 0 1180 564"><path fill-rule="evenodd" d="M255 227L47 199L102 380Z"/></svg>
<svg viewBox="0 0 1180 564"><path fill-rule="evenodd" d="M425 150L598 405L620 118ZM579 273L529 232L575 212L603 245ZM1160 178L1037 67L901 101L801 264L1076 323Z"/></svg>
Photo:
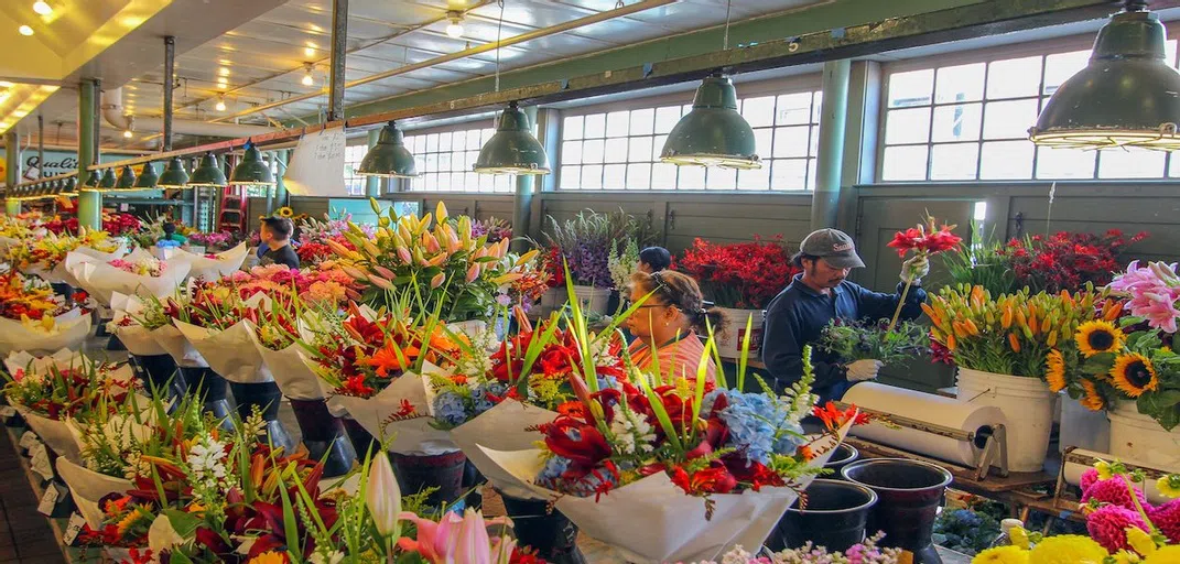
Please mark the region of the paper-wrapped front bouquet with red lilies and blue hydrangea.
<svg viewBox="0 0 1180 564"><path fill-rule="evenodd" d="M704 355L714 348L708 341ZM710 389L700 375L664 381L635 372L622 389L571 378L582 408L542 425L542 450L485 454L517 487L555 499L583 532L631 562L760 546L858 419L833 408L825 433L801 433L815 400L809 367L782 396L765 385L762 393Z"/></svg>

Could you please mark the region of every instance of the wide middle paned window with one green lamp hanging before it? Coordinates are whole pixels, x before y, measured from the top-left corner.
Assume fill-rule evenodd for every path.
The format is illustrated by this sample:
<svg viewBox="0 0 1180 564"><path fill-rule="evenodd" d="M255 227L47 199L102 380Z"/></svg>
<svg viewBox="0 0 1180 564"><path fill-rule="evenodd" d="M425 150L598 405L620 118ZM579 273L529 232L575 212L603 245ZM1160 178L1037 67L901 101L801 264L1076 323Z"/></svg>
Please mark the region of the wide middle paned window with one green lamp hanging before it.
<svg viewBox="0 0 1180 564"><path fill-rule="evenodd" d="M739 101L754 129L760 170L660 162L668 132L690 105L568 116L562 127L563 190L808 190L815 185L819 92Z"/></svg>

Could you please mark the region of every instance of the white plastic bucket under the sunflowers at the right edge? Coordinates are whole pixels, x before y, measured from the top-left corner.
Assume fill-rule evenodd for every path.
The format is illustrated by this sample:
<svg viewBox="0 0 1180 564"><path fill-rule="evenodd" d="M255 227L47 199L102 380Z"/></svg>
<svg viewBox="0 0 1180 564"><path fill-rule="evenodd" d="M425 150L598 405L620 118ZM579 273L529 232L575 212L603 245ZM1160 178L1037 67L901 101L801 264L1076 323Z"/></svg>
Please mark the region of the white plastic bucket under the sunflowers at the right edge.
<svg viewBox="0 0 1180 564"><path fill-rule="evenodd" d="M1134 401L1122 401L1107 412L1110 418L1110 454L1141 460L1153 468L1180 472L1180 427L1165 431L1140 414Z"/></svg>

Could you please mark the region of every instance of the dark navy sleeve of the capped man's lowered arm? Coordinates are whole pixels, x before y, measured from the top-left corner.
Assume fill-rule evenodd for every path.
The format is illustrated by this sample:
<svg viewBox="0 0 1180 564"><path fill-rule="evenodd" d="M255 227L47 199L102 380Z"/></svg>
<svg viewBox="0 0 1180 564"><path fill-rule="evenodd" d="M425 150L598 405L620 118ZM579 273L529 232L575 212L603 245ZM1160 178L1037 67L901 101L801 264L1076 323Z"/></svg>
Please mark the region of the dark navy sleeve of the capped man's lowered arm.
<svg viewBox="0 0 1180 564"><path fill-rule="evenodd" d="M780 391L791 387L804 376L804 343L799 339L799 327L800 320L787 308L772 308L766 313L762 363L766 365ZM815 374L813 389L826 389L847 380L847 370L840 365L813 361L812 369Z"/></svg>

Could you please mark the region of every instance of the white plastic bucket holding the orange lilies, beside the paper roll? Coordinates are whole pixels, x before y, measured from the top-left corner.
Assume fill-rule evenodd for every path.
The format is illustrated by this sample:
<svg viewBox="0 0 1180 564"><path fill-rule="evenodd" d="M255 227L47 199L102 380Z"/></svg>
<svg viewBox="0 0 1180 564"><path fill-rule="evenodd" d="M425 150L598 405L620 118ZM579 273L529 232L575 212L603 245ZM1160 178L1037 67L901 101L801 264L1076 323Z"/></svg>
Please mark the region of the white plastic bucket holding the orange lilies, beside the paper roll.
<svg viewBox="0 0 1180 564"><path fill-rule="evenodd" d="M1049 451L1054 393L1040 378L958 369L958 399L996 406L1008 419L1008 470L1040 472Z"/></svg>

